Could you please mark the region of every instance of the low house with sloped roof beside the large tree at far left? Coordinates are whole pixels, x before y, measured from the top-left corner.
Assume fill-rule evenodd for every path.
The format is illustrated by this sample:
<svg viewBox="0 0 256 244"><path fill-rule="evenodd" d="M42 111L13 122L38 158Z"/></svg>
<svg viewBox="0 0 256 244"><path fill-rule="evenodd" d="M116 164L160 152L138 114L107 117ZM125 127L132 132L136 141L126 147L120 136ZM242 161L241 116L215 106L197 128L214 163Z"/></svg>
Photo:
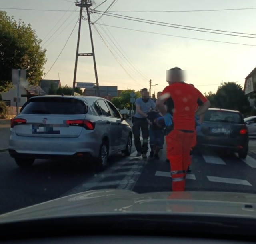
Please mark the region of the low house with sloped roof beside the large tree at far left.
<svg viewBox="0 0 256 244"><path fill-rule="evenodd" d="M7 106L16 106L17 103L17 89L18 85L13 85L14 88L8 90L8 92L1 93L3 101ZM19 86L19 106L21 107L32 96L39 95L39 86L29 85L28 82L20 84ZM41 95L46 95L46 92L41 89Z"/></svg>

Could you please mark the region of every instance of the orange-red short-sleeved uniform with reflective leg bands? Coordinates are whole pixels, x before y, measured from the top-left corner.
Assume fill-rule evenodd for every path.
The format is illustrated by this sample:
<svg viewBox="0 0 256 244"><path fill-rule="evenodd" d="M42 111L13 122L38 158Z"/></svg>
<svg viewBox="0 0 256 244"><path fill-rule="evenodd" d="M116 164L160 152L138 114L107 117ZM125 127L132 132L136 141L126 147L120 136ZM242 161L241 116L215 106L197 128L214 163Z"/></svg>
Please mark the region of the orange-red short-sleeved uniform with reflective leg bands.
<svg viewBox="0 0 256 244"><path fill-rule="evenodd" d="M185 190L186 170L190 163L190 149L194 143L196 106L207 102L202 93L184 82L164 88L167 111L172 114L173 130L166 135L167 158L170 161L172 191Z"/></svg>

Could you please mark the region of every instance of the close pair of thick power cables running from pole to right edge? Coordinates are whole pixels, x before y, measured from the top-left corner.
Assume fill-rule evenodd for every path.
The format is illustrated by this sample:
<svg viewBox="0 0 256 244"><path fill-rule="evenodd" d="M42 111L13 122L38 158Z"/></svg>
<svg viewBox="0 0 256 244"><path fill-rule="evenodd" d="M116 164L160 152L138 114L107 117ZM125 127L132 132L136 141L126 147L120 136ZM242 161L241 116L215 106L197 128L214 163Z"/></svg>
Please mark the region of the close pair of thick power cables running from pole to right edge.
<svg viewBox="0 0 256 244"><path fill-rule="evenodd" d="M96 12L102 12L102 11L96 11ZM154 24L158 26L166 26L166 27L171 27L171 28L178 28L178 29L184 29L184 30L193 30L193 31L198 31L198 32L206 32L206 33L212 33L212 34L220 34L220 35L227 35L227 36L238 36L238 37L246 37L246 38L256 38L256 34L250 34L250 33L240 33L240 32L229 32L229 31L223 31L223 30L214 30L218 32L228 32L228 33L237 33L237 34L246 34L246 35L253 35L253 36L241 36L241 35L234 35L234 34L228 34L228 33L218 33L218 32L213 32L213 31L206 31L206 30L212 30L212 29L206 29L206 28L199 28L199 27L193 27L193 26L186 26L188 28L182 27L183 25L178 25L178 24L171 24L171 23L166 23L166 22L159 22L159 21L154 21L154 20L146 20L146 19L141 19L141 18L135 18L135 17L130 17L130 16L124 16L120 14L104 14L106 16L110 17L115 17L115 18L121 18L124 20L132 20L132 21L137 21L137 22L142 22L146 24ZM194 28L194 29L191 29Z"/></svg>

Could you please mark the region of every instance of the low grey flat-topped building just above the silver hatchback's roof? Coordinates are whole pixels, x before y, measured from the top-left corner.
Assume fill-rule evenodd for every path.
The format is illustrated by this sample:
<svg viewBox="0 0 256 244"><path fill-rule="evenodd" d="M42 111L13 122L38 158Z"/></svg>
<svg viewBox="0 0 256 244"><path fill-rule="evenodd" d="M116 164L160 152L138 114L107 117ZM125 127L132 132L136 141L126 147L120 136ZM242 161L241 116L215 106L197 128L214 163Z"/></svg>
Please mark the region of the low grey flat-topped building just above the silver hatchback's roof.
<svg viewBox="0 0 256 244"><path fill-rule="evenodd" d="M96 96L97 88L85 88L83 95L85 96ZM99 86L100 97L111 100L112 98L118 96L117 86Z"/></svg>

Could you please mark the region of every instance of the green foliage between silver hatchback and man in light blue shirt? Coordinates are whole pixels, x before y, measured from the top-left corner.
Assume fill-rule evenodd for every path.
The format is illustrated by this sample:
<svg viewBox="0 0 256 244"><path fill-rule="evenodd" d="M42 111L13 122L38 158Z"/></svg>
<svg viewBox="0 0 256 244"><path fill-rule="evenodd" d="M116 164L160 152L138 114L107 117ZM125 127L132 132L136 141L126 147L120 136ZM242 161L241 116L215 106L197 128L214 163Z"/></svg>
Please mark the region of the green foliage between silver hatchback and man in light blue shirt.
<svg viewBox="0 0 256 244"><path fill-rule="evenodd" d="M111 102L119 109L130 109L130 93L134 92L135 93L135 98L139 98L140 97L140 91L135 91L132 89L128 89L128 90L122 90L122 92L120 93L119 97L115 97L112 98Z"/></svg>

